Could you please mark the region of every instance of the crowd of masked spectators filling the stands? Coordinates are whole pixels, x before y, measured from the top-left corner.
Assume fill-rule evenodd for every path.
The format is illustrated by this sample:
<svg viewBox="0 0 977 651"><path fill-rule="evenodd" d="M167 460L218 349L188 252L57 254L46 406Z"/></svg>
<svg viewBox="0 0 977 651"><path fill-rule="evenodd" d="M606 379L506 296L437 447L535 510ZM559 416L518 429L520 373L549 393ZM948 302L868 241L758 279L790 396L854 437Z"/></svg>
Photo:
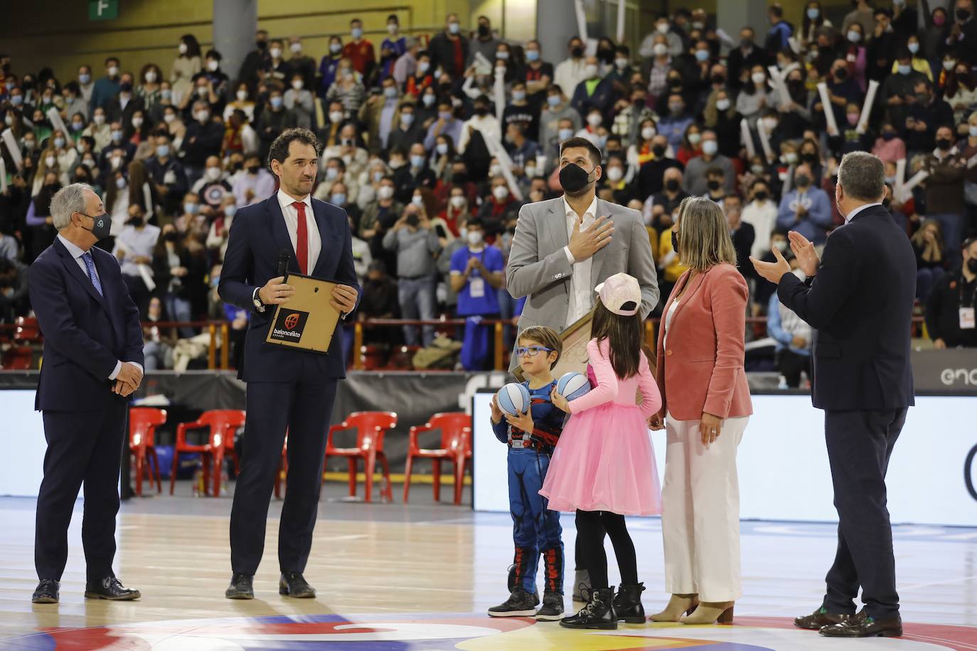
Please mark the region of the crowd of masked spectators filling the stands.
<svg viewBox="0 0 977 651"><path fill-rule="evenodd" d="M215 291L228 233L237 210L276 191L271 143L304 126L323 143L314 194L353 226L361 319L518 314L502 271L520 207L559 196L559 143L578 136L604 154L599 196L644 215L662 297L684 271L670 237L679 202L723 206L751 312L771 317L790 378L810 331L746 258L788 252L788 229L823 244L844 223L840 157L875 153L917 254L930 337L977 345L956 320L973 306L977 273L973 0L857 0L830 17L812 0L800 16L771 5L767 18L766 34L730 35L678 9L658 16L637 52L606 36L544 52L500 37L484 16L470 31L450 14L442 31L409 36L390 16L378 45L352 20L324 54L259 30L239 70L192 35L172 61L79 61L70 79L0 55L0 322L29 312L29 264L56 235L51 197L78 182L105 197L111 237L100 245L148 323L148 365L172 365L173 348L198 334L166 335L152 321L226 318L239 339L247 314ZM407 345L433 339L434 328L404 328ZM367 343L392 341L367 332ZM470 346L466 366L485 364L481 344Z"/></svg>

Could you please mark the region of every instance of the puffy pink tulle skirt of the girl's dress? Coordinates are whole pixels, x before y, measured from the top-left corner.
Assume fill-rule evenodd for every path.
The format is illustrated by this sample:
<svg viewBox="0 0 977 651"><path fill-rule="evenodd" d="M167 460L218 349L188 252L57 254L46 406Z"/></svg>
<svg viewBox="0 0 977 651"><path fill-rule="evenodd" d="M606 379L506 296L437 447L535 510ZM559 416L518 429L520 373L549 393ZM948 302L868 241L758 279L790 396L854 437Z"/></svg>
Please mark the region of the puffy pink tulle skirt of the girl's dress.
<svg viewBox="0 0 977 651"><path fill-rule="evenodd" d="M539 494L552 510L661 513L655 451L641 410L608 402L573 414Z"/></svg>

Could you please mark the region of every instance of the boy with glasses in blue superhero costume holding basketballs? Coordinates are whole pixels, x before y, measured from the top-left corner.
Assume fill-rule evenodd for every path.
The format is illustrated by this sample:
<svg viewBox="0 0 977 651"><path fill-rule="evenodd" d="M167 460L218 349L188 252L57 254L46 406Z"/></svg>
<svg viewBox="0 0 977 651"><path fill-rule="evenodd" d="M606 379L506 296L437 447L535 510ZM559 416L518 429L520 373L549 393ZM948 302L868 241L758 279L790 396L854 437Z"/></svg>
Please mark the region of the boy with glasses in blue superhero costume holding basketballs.
<svg viewBox="0 0 977 651"><path fill-rule="evenodd" d="M533 326L519 335L516 354L528 380L530 411L514 417L499 409L492 398L491 421L495 437L509 446L509 512L516 544L515 585L504 603L488 609L492 617L526 617L558 621L563 617L563 541L560 514L546 508L539 495L550 456L560 438L566 414L553 406L550 392L556 384L552 369L560 359L563 342L551 328ZM503 420L504 419L504 420ZM545 564L545 587L539 611L536 567Z"/></svg>

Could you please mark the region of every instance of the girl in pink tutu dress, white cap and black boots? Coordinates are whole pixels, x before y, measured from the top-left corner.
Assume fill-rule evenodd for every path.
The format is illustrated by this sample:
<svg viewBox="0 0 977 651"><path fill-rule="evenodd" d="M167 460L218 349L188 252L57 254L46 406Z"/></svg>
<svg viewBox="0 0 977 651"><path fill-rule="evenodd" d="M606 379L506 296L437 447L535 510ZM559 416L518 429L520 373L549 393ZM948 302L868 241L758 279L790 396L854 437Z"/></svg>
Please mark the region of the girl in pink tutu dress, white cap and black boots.
<svg viewBox="0 0 977 651"><path fill-rule="evenodd" d="M539 494L553 510L575 511L577 545L593 587L587 605L560 625L568 629L616 629L618 620L645 622L634 544L625 515L658 515L661 489L647 421L661 396L642 351L638 315L641 288L617 273L595 290L587 344L591 390L568 402L556 392L553 405L571 414ZM638 390L641 403L635 404ZM611 536L621 585L608 586L604 532Z"/></svg>

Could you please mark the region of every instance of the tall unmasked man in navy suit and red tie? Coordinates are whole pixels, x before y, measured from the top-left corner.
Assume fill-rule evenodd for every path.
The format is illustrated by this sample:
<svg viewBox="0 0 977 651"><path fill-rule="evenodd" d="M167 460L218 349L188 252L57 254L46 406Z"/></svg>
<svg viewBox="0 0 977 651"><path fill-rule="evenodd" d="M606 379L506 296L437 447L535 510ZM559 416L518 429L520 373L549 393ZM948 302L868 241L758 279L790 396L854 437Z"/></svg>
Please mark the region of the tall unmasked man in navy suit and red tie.
<svg viewBox="0 0 977 651"><path fill-rule="evenodd" d="M343 283L332 305L344 314L357 305L359 285L346 211L312 198L319 142L308 129L287 129L269 151L280 183L273 196L234 216L218 292L225 302L251 311L239 377L247 383L247 421L241 471L231 511L231 565L226 596L254 598L254 573L265 549L265 526L281 446L288 431L288 479L278 527L278 591L313 597L302 572L312 548L319 509L325 437L336 383L346 377L342 337L325 355L265 344L276 305L295 290L282 283L279 252L290 272Z"/></svg>

